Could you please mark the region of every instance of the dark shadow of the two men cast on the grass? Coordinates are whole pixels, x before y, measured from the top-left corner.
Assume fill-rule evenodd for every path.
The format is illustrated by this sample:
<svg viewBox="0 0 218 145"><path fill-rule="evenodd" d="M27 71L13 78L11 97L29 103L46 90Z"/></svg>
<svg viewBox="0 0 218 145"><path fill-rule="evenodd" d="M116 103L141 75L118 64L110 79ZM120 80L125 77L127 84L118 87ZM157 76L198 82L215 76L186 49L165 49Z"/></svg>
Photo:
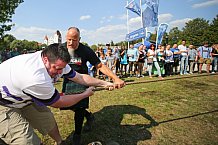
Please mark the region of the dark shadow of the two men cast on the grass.
<svg viewBox="0 0 218 145"><path fill-rule="evenodd" d="M124 119L124 115L139 115L149 124L137 124L134 117ZM148 128L158 125L157 122L146 113L144 108L133 105L106 106L94 113L95 122L91 132L83 133L84 145L93 141L101 141L103 145L115 141L120 145L136 145L138 141L151 139L152 134ZM130 121L129 121L130 120ZM137 121L137 120L136 120ZM125 122L125 123L124 123ZM73 132L67 137L66 142L72 141Z"/></svg>

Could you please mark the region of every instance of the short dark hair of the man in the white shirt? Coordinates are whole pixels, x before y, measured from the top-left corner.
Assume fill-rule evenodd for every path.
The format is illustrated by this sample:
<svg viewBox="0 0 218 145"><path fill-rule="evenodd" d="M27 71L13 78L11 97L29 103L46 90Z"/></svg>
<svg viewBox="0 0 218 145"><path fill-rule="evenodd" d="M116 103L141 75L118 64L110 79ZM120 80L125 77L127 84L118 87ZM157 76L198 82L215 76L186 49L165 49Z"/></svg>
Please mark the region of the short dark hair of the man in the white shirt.
<svg viewBox="0 0 218 145"><path fill-rule="evenodd" d="M43 49L42 56L47 56L51 63L54 63L58 59L69 63L71 59L68 50L58 43L51 44Z"/></svg>

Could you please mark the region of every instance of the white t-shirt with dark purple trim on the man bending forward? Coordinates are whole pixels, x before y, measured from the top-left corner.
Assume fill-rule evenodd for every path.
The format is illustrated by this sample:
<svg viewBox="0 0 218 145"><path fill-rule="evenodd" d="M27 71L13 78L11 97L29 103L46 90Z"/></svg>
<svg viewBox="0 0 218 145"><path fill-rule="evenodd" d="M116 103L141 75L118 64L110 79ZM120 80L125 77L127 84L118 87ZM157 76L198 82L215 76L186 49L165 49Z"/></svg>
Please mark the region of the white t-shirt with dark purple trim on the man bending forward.
<svg viewBox="0 0 218 145"><path fill-rule="evenodd" d="M70 73L66 65L63 74ZM76 72L71 71L71 77ZM13 57L0 64L0 105L22 108L32 102L38 105L51 105L59 99L42 61L41 51Z"/></svg>

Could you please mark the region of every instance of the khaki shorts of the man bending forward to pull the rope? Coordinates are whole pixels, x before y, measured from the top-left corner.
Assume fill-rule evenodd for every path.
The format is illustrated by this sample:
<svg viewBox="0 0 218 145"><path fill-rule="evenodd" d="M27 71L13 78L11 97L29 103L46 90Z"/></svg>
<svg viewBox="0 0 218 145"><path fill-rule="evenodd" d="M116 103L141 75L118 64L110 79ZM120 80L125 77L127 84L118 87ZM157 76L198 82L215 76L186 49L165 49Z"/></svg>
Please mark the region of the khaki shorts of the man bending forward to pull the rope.
<svg viewBox="0 0 218 145"><path fill-rule="evenodd" d="M24 108L9 108L0 105L0 138L6 144L40 145L34 129L48 134L56 125L50 109L35 103Z"/></svg>

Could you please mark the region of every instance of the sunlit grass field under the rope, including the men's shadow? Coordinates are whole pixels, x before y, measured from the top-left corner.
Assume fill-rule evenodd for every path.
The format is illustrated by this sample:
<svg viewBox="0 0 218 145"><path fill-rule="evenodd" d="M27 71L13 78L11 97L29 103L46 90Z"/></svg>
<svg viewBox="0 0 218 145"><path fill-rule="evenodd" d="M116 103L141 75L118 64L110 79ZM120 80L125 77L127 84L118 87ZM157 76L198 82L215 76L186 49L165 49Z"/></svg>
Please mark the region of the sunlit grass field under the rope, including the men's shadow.
<svg viewBox="0 0 218 145"><path fill-rule="evenodd" d="M126 79L127 82L148 80ZM155 80L156 78L153 78ZM56 85L60 88L60 84ZM84 145L218 144L218 75L127 85L97 91L90 99L94 128L82 135ZM74 132L72 111L52 109L61 135L70 145ZM53 144L42 137L46 145Z"/></svg>

